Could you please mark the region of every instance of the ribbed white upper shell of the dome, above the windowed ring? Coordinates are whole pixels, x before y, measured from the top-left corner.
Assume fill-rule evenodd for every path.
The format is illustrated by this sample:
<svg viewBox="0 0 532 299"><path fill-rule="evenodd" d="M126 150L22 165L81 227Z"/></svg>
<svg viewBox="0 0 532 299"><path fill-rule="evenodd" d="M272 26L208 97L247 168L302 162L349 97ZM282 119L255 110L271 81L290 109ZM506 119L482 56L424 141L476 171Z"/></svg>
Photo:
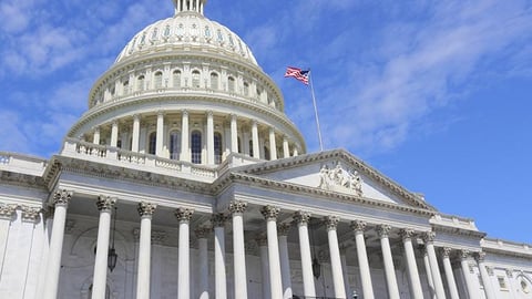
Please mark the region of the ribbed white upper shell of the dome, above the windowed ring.
<svg viewBox="0 0 532 299"><path fill-rule="evenodd" d="M226 27L200 13L184 11L141 30L122 50L116 63L146 53L194 49L257 65L246 43Z"/></svg>

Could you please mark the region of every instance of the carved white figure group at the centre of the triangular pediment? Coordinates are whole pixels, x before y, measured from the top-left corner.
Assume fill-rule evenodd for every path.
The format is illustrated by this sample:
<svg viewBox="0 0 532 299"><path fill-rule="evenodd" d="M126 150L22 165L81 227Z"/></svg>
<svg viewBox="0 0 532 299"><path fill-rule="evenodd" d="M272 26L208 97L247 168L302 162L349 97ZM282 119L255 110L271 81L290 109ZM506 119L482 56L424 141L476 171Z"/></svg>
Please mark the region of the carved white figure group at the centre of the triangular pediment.
<svg viewBox="0 0 532 299"><path fill-rule="evenodd" d="M362 179L354 168L346 169L340 162L335 167L321 165L319 171L319 188L335 192L348 192L362 196Z"/></svg>

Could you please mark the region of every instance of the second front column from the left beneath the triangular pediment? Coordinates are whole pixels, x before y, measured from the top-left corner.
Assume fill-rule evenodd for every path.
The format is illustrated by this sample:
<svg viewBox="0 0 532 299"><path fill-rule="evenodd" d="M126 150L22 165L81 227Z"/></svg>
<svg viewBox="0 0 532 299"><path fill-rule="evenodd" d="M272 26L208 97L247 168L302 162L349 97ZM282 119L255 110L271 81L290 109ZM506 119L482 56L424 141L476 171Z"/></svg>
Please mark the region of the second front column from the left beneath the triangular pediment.
<svg viewBox="0 0 532 299"><path fill-rule="evenodd" d="M264 206L260 209L266 219L266 230L268 234L268 260L269 260L269 286L272 299L283 299L283 280L280 274L279 244L277 240L277 216L280 208L274 206Z"/></svg>

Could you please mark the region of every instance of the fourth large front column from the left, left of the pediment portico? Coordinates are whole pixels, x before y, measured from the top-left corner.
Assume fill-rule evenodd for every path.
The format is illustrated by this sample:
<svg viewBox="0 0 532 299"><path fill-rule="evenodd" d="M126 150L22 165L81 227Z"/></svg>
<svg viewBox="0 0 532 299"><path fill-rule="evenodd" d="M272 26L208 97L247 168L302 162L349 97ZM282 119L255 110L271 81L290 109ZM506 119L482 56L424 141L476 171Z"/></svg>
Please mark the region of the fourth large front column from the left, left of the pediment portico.
<svg viewBox="0 0 532 299"><path fill-rule="evenodd" d="M190 248L190 228L193 209L177 208L174 213L175 217L180 221L180 249L177 257L177 298L190 299L191 298L191 248Z"/></svg>

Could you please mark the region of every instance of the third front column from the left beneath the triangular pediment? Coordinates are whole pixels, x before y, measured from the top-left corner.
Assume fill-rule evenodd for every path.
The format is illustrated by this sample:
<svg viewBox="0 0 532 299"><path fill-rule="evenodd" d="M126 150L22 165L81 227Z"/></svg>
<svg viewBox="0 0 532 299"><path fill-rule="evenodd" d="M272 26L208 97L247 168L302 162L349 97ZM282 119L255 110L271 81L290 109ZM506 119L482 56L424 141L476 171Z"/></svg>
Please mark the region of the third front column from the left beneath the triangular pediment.
<svg viewBox="0 0 532 299"><path fill-rule="evenodd" d="M299 252L301 254L303 289L305 297L316 297L316 287L313 277L313 257L310 255L310 240L308 238L308 221L310 213L298 210L294 213L294 221L299 230Z"/></svg>

